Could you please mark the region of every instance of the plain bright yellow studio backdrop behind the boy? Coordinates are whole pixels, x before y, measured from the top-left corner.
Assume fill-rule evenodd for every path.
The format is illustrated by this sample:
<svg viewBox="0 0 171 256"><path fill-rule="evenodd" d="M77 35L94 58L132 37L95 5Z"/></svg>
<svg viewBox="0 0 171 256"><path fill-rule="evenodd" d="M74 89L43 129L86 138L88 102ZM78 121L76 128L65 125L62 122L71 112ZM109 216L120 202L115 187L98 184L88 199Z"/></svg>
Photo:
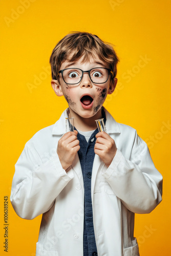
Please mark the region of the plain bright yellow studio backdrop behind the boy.
<svg viewBox="0 0 171 256"><path fill-rule="evenodd" d="M49 57L57 41L71 31L88 31L115 45L120 58L118 85L104 106L147 142L164 179L163 201L151 214L136 215L135 237L141 256L171 255L171 1L1 0L0 4L0 255L35 255L41 216L23 220L15 214L9 200L14 164L25 143L67 108L65 99L51 88ZM8 228L4 228L7 197Z"/></svg>

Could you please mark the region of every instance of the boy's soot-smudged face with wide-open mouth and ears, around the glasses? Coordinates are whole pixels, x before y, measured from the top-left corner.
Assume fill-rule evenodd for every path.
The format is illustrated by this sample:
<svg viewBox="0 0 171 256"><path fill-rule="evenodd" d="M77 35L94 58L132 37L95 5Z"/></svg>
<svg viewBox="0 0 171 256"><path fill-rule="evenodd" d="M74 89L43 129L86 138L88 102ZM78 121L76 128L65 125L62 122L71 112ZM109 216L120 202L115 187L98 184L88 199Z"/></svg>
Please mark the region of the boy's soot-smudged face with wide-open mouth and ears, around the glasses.
<svg viewBox="0 0 171 256"><path fill-rule="evenodd" d="M91 58L89 62L82 62L82 58L74 63L65 61L62 63L60 70L68 68L78 68L87 71L93 68L108 68L103 61L98 57ZM74 76L77 75L74 73ZM98 75L98 74L95 74ZM117 83L117 78L111 79L109 75L105 83L93 83L89 77L89 73L83 73L82 80L77 84L67 84L61 73L59 81L52 80L52 87L58 96L64 96L68 102L71 116L78 115L82 118L98 117L101 113L101 106L108 94L114 92ZM100 114L101 115L101 114Z"/></svg>

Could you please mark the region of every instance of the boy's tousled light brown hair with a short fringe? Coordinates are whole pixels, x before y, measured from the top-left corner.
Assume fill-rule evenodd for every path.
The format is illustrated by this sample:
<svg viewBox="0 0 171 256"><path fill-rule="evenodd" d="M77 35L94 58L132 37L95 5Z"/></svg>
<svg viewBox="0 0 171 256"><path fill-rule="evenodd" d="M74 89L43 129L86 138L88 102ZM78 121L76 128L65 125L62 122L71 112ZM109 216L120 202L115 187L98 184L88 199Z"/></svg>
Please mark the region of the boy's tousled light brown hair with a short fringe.
<svg viewBox="0 0 171 256"><path fill-rule="evenodd" d="M97 35L87 32L73 32L66 35L57 43L50 57L52 79L56 79L63 61L73 62L83 56L83 61L87 62L96 54L100 60L110 65L115 77L119 58L110 44L102 41Z"/></svg>

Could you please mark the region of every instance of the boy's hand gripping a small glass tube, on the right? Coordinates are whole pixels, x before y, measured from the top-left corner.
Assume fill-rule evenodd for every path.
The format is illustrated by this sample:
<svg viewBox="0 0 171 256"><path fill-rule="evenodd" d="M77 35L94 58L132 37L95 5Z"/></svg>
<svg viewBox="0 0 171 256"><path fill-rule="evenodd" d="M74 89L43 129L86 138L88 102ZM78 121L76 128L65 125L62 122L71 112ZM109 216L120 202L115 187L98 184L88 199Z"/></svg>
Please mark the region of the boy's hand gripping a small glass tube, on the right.
<svg viewBox="0 0 171 256"><path fill-rule="evenodd" d="M109 167L117 151L115 141L105 132L97 133L96 138L94 152Z"/></svg>

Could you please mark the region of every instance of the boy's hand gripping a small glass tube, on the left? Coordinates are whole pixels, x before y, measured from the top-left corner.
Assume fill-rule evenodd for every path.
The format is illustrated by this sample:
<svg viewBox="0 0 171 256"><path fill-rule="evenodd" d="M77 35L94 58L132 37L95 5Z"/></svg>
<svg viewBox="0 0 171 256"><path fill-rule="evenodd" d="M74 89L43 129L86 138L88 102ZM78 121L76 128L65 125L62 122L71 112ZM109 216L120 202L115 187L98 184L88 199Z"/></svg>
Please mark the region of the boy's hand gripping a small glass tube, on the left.
<svg viewBox="0 0 171 256"><path fill-rule="evenodd" d="M77 131L64 134L57 145L57 154L62 165L62 168L67 168L74 161L75 155L79 151L79 140L77 139Z"/></svg>

